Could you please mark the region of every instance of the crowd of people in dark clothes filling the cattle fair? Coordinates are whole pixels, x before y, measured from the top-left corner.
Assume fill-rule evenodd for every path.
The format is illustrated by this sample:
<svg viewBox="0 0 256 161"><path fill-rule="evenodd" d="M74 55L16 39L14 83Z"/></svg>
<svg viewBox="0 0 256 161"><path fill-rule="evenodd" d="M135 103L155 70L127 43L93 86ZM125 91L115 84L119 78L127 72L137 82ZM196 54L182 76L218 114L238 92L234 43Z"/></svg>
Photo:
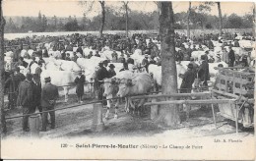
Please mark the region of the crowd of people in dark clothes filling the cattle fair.
<svg viewBox="0 0 256 161"><path fill-rule="evenodd" d="M234 35L235 36L235 35ZM212 42L213 39L218 39L218 34L206 34L204 36L200 35L199 37L193 37L194 43L199 44L199 48L196 48L195 45L185 48L183 45L184 42L188 42L187 37L185 35L180 35L178 33L175 34L175 46L178 47L180 50L175 52L175 60L177 62L180 61L190 61L188 64L188 69L184 75L180 75L179 77L182 78L181 83L181 90L180 92L191 92L192 84L194 80L198 79L203 82L203 85L208 86L207 80L210 80L209 75L209 63L215 62L214 58L208 56L209 51L205 52L205 55L201 56L201 65L198 66L195 63L194 58L191 57L191 53L193 51L203 51L202 45L207 46L210 50L214 48L214 44ZM146 39L149 38L149 42ZM113 51L112 53L112 63L122 63L123 69L121 71L129 70L128 64L134 64L134 60L131 58L131 55L134 53L136 49L142 50L142 55L144 55L144 59L141 63L142 67L145 67L146 71L148 71L148 67L150 64L161 65L160 61L160 48L158 44L160 44L160 37L149 37L146 34L134 34L132 37L121 37L119 35L111 35L106 34L101 38L98 38L93 35L82 35L82 34L72 34L69 36L42 36L32 37L30 38L23 38L10 41L7 43L15 44L16 47L10 47L8 50L12 50L14 52L13 61L16 62L16 66L14 71L10 71L10 77L5 81L5 88L8 89L8 99L9 104L8 108L14 108L15 106L22 106L23 114L32 114L35 112L37 108L39 112L47 111L54 109L54 105L56 99L58 98L58 88L54 84L51 84L50 78L45 78L45 85L41 86L40 84L40 70L38 69L34 75L28 74L26 77L20 73L20 68L18 66L24 67L31 67L33 63L38 64L40 67L44 62L43 57L49 57L48 50L44 43L40 43L42 41L51 41L51 47L53 51L59 50L61 52L61 59L67 61L75 61L78 59L77 54L81 54L82 57L91 58L93 53L90 53L88 56L83 54L83 47L91 47L92 49L96 50L96 54L94 56L100 57L99 51L104 51L107 47ZM219 42L222 39L218 39ZM32 43L38 42L38 44L33 45ZM29 46L23 45L23 43L28 43ZM232 47L237 47L239 44L238 42L234 41L234 45L231 43L227 44L224 42L222 47L223 58L220 56L220 61L224 61L228 64L229 67L233 67L238 63L242 64L243 66L248 66L246 58L240 59L241 62L235 62L234 51ZM224 46L229 46L229 51L227 52ZM74 52L74 57L70 58L69 54L65 54L67 51L73 52L73 47L77 47L77 50ZM32 63L28 64L24 61L24 57L22 57L21 51L24 49L33 49L32 53ZM116 51L120 51L122 54L118 57ZM124 57L127 56L127 58ZM27 55L28 58L30 57ZM38 61L35 61L35 56L39 57ZM218 57L219 58L219 57ZM97 98L99 100L103 99L102 93L103 89L101 84L103 83L102 80L106 78L112 78L115 76L113 64L109 64L109 61L103 61L98 64L99 70L96 72L96 89L98 91ZM106 67L109 67L109 70L106 70ZM83 94L84 94L84 83L85 83L85 76L82 72L79 73L79 76L74 80L76 83L76 93L78 96L78 101L83 102ZM42 131L46 131L47 125L47 113L43 113L42 117ZM55 128L55 114L54 112L49 112L51 118L51 128ZM28 116L24 117L23 120L23 130L28 132Z"/></svg>

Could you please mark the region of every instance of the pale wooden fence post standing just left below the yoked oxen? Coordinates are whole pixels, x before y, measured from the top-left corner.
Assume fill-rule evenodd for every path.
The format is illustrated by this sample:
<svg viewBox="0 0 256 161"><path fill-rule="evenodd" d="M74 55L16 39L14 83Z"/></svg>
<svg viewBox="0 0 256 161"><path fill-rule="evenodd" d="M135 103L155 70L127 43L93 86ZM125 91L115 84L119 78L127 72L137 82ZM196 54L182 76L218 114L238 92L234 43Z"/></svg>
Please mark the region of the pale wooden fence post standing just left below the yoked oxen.
<svg viewBox="0 0 256 161"><path fill-rule="evenodd" d="M94 104L93 110L93 123L91 130L94 132L101 132L104 129L104 123L102 121L102 103Z"/></svg>

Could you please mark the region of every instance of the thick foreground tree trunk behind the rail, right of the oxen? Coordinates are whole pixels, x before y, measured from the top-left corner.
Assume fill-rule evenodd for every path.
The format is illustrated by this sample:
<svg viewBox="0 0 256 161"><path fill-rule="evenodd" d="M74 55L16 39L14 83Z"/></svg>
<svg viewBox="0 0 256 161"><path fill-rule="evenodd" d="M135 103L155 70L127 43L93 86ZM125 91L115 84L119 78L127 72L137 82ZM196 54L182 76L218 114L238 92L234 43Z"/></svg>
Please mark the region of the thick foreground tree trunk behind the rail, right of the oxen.
<svg viewBox="0 0 256 161"><path fill-rule="evenodd" d="M160 2L160 42L162 94L176 93L177 72L174 58L174 20L171 2ZM167 100L173 100L173 98ZM173 104L160 107L157 122L163 126L176 127L180 123L178 107Z"/></svg>

